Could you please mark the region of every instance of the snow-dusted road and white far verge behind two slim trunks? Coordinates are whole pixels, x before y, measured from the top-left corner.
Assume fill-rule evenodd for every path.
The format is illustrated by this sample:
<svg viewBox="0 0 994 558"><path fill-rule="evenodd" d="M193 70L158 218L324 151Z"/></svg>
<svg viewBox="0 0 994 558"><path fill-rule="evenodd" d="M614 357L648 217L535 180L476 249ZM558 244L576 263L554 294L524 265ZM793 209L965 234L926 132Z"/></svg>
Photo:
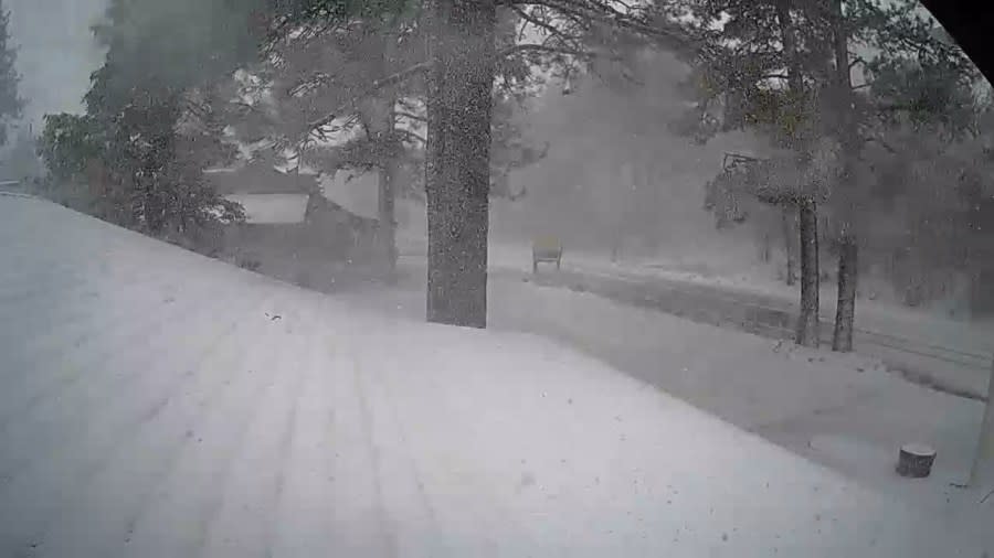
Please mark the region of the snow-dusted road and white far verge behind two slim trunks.
<svg viewBox="0 0 994 558"><path fill-rule="evenodd" d="M490 249L495 272L530 273L528 247L496 245ZM585 290L643 307L686 315L705 323L762 331L791 339L797 293L763 291L726 277L660 270L632 262L614 265L590 255L569 253L563 272L546 273L542 283ZM823 293L823 341L831 342L834 299ZM856 351L880 358L893 372L953 394L982 398L991 376L994 330L887 304L857 309Z"/></svg>

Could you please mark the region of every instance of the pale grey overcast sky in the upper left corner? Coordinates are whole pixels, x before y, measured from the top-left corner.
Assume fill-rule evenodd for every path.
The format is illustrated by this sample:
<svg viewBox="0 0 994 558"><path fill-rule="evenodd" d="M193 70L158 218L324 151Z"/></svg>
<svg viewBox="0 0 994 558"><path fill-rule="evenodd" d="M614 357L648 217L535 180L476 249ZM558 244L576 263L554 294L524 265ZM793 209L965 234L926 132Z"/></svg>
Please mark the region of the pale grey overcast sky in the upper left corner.
<svg viewBox="0 0 994 558"><path fill-rule="evenodd" d="M169 0L163 0L169 1ZM10 33L20 49L21 96L27 119L35 124L51 112L82 110L82 98L103 53L89 26L106 0L6 0Z"/></svg>

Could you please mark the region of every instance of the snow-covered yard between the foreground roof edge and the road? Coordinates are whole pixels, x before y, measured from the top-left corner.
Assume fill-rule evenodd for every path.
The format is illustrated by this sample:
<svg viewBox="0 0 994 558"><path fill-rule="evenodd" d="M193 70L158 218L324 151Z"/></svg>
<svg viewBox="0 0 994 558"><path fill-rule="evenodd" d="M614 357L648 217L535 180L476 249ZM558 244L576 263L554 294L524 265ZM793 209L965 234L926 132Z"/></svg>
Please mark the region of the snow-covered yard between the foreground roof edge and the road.
<svg viewBox="0 0 994 558"><path fill-rule="evenodd" d="M423 275L412 268L413 277ZM952 486L965 481L974 455L979 401L908 383L874 358L808 351L499 273L489 297L493 329L582 351L994 545L985 527L994 507L990 498L979 504L986 493ZM423 285L356 300L415 319L423 313ZM898 448L911 441L938 451L927 480L893 472Z"/></svg>

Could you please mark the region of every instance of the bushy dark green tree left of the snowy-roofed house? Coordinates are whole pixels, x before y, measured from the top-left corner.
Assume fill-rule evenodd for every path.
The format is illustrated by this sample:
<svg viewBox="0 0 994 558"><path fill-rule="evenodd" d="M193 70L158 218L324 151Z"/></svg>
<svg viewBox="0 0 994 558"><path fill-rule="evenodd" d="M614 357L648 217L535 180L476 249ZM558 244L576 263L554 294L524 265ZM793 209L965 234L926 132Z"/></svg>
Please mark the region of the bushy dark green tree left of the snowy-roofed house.
<svg viewBox="0 0 994 558"><path fill-rule="evenodd" d="M235 9L235 6L241 9ZM203 180L197 89L256 52L252 2L113 0L94 28L107 49L86 115L46 119L41 151L55 176L84 176L95 214L152 235L187 237L240 208ZM216 25L223 21L223 25ZM207 127L209 128L209 126Z"/></svg>

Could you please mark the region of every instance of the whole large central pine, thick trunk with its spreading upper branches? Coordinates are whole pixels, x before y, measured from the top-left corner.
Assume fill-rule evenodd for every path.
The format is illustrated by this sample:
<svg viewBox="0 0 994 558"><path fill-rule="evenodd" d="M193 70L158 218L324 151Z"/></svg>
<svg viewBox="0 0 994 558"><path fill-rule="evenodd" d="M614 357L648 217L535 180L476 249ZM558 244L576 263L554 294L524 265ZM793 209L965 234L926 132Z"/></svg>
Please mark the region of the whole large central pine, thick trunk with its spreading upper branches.
<svg viewBox="0 0 994 558"><path fill-rule="evenodd" d="M536 44L499 49L500 8L509 7L542 35ZM378 83L426 78L425 194L429 221L427 319L486 326L487 238L491 174L494 84L505 57L528 53L569 68L613 55L621 32L641 33L670 49L692 49L655 4L626 7L592 0L275 0L275 25L286 32L302 21L341 21L417 12L426 26L423 64ZM591 40L595 49L591 49ZM329 116L337 116L332 111ZM321 122L321 120L318 120ZM330 121L330 120L326 120Z"/></svg>

